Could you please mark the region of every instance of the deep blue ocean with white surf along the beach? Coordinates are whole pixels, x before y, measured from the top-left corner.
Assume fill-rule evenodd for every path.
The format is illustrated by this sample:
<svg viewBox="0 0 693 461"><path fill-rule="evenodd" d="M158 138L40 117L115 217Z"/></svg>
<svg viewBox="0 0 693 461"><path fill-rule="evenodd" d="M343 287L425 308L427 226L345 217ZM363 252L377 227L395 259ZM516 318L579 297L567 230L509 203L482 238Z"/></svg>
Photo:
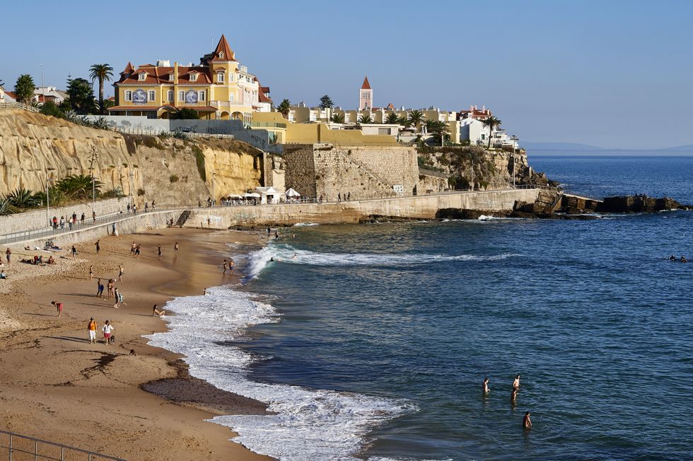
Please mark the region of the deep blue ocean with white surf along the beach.
<svg viewBox="0 0 693 461"><path fill-rule="evenodd" d="M530 164L588 196L693 203L693 157ZM170 301L151 342L267 402L214 421L281 460L687 459L693 264L667 257L693 256L692 229L690 211L296 226L242 286Z"/></svg>

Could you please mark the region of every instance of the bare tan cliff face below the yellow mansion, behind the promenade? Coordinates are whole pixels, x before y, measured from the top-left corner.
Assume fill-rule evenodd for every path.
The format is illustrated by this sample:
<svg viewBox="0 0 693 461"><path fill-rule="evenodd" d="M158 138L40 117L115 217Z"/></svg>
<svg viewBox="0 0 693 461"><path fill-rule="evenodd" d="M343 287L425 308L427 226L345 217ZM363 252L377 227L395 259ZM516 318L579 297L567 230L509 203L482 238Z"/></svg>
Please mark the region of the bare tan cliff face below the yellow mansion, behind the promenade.
<svg viewBox="0 0 693 461"><path fill-rule="evenodd" d="M93 171L103 191L120 188L138 203L197 203L243 193L262 181L262 152L236 140L178 140L122 136L23 111L0 113L0 195L45 189Z"/></svg>

